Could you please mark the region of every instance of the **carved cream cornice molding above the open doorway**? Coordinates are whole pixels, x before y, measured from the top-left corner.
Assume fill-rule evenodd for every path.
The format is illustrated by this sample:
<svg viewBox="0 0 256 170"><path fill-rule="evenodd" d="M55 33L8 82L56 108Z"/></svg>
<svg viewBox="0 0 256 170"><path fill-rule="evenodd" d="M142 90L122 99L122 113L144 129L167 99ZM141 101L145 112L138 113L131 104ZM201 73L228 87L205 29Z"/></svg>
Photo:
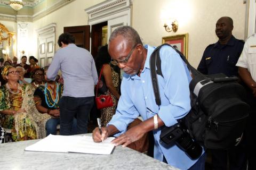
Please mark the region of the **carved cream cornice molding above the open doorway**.
<svg viewBox="0 0 256 170"><path fill-rule="evenodd" d="M115 12L127 10L132 5L131 0L107 0L100 4L85 9L89 15L89 22L102 18L103 16L112 15Z"/></svg>

